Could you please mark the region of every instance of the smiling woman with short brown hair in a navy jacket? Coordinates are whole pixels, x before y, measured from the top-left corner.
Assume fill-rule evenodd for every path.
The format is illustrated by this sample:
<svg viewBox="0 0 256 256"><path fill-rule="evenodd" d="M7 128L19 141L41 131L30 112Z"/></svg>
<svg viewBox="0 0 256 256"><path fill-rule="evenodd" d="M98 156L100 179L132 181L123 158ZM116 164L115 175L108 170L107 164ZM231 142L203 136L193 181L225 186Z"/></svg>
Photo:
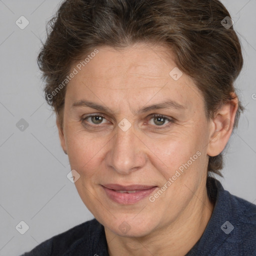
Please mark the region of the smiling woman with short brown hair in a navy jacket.
<svg viewBox="0 0 256 256"><path fill-rule="evenodd" d="M256 206L225 191L242 105L218 0L65 0L38 56L94 219L24 255L256 255Z"/></svg>

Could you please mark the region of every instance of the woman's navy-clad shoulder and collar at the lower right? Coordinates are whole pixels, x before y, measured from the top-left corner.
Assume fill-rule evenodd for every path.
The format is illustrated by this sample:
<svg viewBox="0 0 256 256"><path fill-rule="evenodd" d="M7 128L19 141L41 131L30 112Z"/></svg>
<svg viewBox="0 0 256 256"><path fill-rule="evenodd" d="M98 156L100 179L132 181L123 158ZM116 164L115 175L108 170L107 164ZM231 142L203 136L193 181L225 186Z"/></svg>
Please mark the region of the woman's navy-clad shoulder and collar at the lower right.
<svg viewBox="0 0 256 256"><path fill-rule="evenodd" d="M187 255L256 255L256 205L224 190L208 179L207 191L215 205L210 220Z"/></svg>

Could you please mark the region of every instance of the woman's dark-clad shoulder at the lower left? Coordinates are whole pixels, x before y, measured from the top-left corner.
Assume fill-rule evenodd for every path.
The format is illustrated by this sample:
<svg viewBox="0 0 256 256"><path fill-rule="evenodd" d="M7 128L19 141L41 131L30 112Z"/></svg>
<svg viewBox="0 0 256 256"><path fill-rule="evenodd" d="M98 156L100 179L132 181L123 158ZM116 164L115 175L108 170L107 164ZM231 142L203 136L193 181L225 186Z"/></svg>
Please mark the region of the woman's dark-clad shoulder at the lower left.
<svg viewBox="0 0 256 256"><path fill-rule="evenodd" d="M102 225L94 218L52 236L21 256L69 255L78 246L85 249L90 247L91 239L100 230Z"/></svg>

